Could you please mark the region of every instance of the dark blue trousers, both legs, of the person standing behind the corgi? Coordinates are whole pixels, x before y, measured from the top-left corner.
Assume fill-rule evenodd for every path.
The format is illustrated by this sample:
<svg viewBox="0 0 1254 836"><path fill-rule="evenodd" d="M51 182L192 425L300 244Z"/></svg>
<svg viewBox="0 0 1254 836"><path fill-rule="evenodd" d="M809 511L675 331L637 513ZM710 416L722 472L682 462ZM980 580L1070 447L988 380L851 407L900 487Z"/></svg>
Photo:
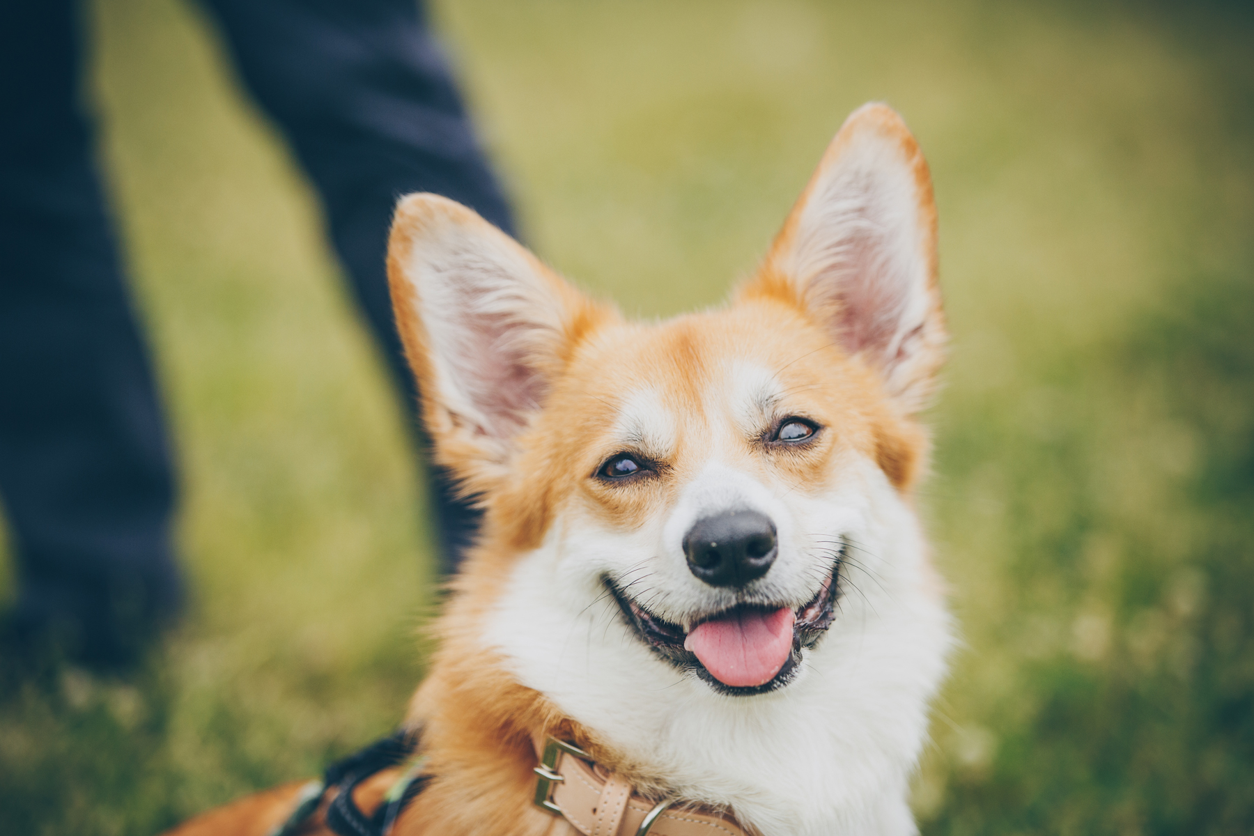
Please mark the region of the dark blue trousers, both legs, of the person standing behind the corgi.
<svg viewBox="0 0 1254 836"><path fill-rule="evenodd" d="M512 231L415 5L211 4L291 139L396 382L384 248L399 194L434 191ZM0 498L15 623L65 622L79 653L125 656L177 609L163 417L119 267L80 102L76 0L0 6ZM445 569L478 515L436 474Z"/></svg>

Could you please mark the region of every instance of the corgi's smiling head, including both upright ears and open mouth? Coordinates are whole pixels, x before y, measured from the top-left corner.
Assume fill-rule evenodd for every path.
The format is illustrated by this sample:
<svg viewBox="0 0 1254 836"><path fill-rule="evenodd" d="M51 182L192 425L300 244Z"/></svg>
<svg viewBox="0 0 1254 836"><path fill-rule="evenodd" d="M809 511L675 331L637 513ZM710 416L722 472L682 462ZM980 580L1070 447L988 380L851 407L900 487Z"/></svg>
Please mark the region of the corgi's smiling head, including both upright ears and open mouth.
<svg viewBox="0 0 1254 836"><path fill-rule="evenodd" d="M935 269L927 164L883 105L845 123L726 307L658 325L470 209L405 198L393 298L436 457L487 505L469 572L515 613L495 640L582 664L601 614L635 659L611 678L789 686L848 567L893 592L946 336Z"/></svg>

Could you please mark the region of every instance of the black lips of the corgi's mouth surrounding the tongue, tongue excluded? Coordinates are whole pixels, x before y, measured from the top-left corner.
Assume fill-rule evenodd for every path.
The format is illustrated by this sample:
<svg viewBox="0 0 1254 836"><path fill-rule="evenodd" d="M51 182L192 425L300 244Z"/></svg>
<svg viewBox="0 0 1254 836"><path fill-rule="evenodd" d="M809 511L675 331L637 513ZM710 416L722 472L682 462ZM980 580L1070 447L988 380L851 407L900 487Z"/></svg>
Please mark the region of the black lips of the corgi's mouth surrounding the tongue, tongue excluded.
<svg viewBox="0 0 1254 836"><path fill-rule="evenodd" d="M731 697L750 697L754 694L770 693L786 687L796 678L801 663L801 652L814 647L826 633L835 619L835 604L840 594L840 560L836 559L819 592L805 604L794 608L793 618L793 647L779 672L769 681L756 686L730 686L715 677L697 658L696 653L685 648L691 629L697 624L716 618L725 618L735 614L736 610L771 610L779 609L761 603L737 604L731 609L711 613L696 619L688 630L682 625L668 622L648 612L640 603L633 600L619 589L609 578L604 579L606 588L618 602L623 618L641 642L651 648L660 657L673 664L680 671L695 673L706 682L715 692Z"/></svg>

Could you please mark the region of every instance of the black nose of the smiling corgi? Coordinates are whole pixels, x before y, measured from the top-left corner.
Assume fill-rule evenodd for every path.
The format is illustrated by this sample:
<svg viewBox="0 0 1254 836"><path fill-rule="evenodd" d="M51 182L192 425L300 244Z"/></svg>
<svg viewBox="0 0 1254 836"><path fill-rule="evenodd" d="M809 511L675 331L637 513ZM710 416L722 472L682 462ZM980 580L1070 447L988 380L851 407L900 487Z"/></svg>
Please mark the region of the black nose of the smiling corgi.
<svg viewBox="0 0 1254 836"><path fill-rule="evenodd" d="M711 587L744 587L775 563L775 524L757 511L725 511L697 520L683 538L688 569Z"/></svg>

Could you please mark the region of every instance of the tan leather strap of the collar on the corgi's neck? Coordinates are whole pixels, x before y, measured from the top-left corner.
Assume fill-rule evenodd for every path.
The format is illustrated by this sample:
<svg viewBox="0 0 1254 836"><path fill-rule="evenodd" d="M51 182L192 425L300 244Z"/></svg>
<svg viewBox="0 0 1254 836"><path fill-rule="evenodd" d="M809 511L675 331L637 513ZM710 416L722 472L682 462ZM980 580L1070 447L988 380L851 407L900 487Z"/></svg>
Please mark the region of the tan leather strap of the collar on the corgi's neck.
<svg viewBox="0 0 1254 836"><path fill-rule="evenodd" d="M537 755L544 738L534 737ZM598 773L589 761L562 752L553 770L562 776L552 800L562 816L583 836L636 836L655 802L636 795L617 773ZM715 812L700 812L682 802L663 811L648 836L750 836L735 820Z"/></svg>

